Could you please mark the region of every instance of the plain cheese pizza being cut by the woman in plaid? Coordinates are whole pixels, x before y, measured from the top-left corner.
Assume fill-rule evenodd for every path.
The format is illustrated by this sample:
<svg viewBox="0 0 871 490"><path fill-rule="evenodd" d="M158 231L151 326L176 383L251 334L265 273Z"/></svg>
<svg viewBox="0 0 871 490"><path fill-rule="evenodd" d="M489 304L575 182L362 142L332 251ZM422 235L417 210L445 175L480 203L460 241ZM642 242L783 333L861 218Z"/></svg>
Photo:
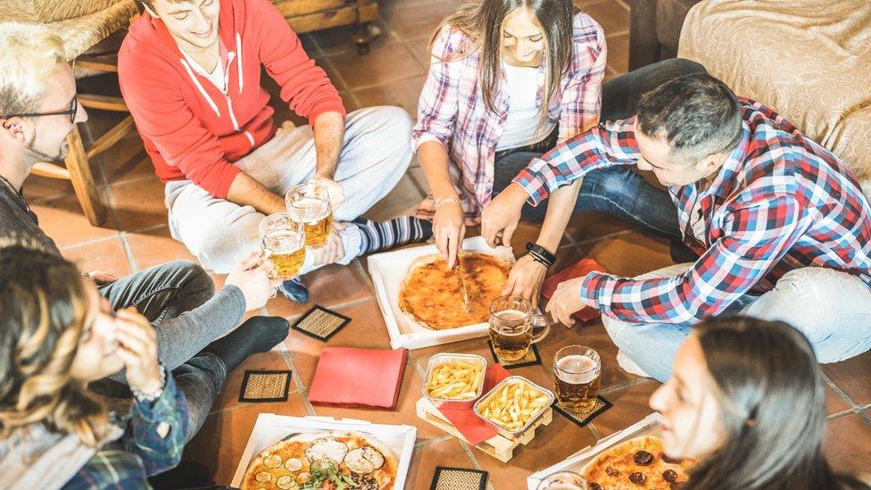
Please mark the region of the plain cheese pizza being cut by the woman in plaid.
<svg viewBox="0 0 871 490"><path fill-rule="evenodd" d="M465 327L490 319L490 303L502 295L511 264L486 253L460 253L460 271L438 254L412 262L399 292L399 308L411 320L434 330ZM463 301L460 274L469 295Z"/></svg>

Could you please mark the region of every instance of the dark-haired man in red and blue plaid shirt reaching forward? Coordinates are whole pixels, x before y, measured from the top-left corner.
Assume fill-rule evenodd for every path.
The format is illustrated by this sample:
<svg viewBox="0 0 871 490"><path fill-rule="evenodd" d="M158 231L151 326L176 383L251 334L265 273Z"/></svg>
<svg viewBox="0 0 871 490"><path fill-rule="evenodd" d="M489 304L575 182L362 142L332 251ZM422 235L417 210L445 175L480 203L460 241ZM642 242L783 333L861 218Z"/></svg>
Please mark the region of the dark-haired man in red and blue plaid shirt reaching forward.
<svg viewBox="0 0 871 490"><path fill-rule="evenodd" d="M521 170L484 211L482 235L510 240L536 205L586 173L651 170L674 205L630 192L608 211L645 226L676 215L699 258L638 278L565 281L547 310L566 325L601 311L626 370L664 382L693 324L721 314L784 320L820 362L871 348L871 206L834 154L707 73L645 94L637 114L590 129ZM639 369L640 368L640 369Z"/></svg>

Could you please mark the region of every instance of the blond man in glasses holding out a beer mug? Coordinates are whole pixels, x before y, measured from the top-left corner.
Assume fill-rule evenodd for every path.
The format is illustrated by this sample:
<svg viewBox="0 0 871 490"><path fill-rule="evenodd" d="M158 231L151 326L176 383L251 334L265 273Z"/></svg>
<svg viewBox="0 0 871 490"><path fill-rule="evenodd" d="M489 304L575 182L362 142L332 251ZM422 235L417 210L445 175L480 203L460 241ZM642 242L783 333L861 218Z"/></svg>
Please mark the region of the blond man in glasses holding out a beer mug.
<svg viewBox="0 0 871 490"><path fill-rule="evenodd" d="M85 120L61 39L42 26L0 22L0 246L62 254L39 228L21 189L37 162L63 161L66 137ZM280 281L269 278L271 268L249 257L217 294L212 278L192 262L165 263L124 278L87 274L113 311L136 308L152 322L158 358L187 397L188 438L203 424L228 372L287 336L287 321L276 317L253 317L236 328L245 311L260 309L275 295ZM119 385L124 381L119 373L99 387L129 396Z"/></svg>

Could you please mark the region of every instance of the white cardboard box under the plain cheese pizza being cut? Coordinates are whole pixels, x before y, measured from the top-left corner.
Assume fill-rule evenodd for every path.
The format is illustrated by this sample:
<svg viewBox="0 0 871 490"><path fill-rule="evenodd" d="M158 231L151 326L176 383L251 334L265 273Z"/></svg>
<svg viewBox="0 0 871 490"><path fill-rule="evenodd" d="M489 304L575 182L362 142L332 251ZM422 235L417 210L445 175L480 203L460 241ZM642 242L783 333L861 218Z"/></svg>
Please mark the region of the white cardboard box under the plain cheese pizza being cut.
<svg viewBox="0 0 871 490"><path fill-rule="evenodd" d="M466 238L463 240L463 251L487 253L514 263L514 253L510 248L493 248L487 245L484 237ZM419 257L433 253L438 253L435 245L420 245L369 255L369 274L390 335L390 346L394 349L419 349L487 335L486 322L450 330L433 330L411 320L399 308L399 290L411 264Z"/></svg>

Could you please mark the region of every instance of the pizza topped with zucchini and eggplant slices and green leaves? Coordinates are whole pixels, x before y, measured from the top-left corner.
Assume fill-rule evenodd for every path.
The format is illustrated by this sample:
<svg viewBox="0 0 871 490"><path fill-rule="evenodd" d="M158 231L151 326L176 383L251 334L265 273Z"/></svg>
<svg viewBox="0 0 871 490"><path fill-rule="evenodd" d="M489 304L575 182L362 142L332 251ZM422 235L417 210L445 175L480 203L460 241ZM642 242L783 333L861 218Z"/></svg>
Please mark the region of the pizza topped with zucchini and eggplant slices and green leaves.
<svg viewBox="0 0 871 490"><path fill-rule="evenodd" d="M399 461L373 436L354 432L291 434L253 458L242 490L390 490Z"/></svg>

